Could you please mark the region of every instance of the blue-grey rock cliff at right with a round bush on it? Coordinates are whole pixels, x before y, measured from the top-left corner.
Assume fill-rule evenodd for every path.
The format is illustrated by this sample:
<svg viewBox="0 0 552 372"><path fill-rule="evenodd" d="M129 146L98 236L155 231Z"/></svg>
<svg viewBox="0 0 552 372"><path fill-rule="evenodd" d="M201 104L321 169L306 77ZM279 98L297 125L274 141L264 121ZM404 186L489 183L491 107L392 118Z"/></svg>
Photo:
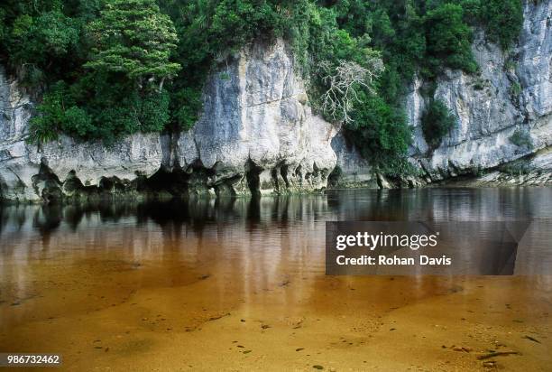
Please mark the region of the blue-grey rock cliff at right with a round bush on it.
<svg viewBox="0 0 552 372"><path fill-rule="evenodd" d="M519 47L508 54L476 33L473 51L480 76L447 70L437 80L434 98L446 103L458 125L430 151L420 118L427 100L415 81L407 97L414 144L413 163L439 181L480 172L552 145L552 2L524 5ZM530 135L532 147L511 141L514 132Z"/></svg>

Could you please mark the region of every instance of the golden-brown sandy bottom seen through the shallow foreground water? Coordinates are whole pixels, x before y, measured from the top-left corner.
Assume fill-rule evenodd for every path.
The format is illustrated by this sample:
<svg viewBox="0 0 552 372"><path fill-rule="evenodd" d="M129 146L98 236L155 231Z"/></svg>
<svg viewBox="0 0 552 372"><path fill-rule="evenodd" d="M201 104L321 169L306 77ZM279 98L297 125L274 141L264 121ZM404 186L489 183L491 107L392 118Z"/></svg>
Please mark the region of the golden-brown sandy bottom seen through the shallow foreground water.
<svg viewBox="0 0 552 372"><path fill-rule="evenodd" d="M0 350L78 371L552 368L550 277L329 277L290 235L89 234L5 248Z"/></svg>

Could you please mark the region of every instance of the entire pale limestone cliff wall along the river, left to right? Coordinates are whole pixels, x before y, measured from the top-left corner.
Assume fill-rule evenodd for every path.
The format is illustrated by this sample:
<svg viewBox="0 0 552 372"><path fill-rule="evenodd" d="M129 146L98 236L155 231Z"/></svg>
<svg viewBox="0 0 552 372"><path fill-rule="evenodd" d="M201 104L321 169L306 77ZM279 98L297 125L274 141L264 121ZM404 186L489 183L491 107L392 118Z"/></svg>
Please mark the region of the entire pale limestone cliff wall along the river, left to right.
<svg viewBox="0 0 552 372"><path fill-rule="evenodd" d="M434 97L458 125L429 149L420 117L428 104L416 79L405 98L413 130L410 161L421 171L400 185L459 175L476 184L552 184L552 1L527 1L517 46L501 51L477 32L481 73L446 70ZM27 144L33 103L0 68L0 196L51 200L81 194L170 191L249 194L314 191L331 185L391 187L373 175L345 136L312 113L292 53L282 41L253 43L223 63L204 91L203 112L188 132L137 134L113 146L61 135ZM530 145L515 144L521 133Z"/></svg>

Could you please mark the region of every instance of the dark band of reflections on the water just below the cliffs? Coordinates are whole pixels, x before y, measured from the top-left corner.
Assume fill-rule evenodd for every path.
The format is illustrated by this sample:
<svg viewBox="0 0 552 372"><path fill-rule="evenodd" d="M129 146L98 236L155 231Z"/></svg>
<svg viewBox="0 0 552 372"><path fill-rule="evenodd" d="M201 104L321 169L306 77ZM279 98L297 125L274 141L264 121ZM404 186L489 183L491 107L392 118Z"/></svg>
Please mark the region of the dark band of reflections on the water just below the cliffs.
<svg viewBox="0 0 552 372"><path fill-rule="evenodd" d="M247 229L285 227L305 220L503 220L549 218L549 189L417 189L409 191L327 191L321 195L263 198L189 198L188 200L101 200L66 206L4 206L0 234L6 227L32 228L47 237L65 226L72 231L86 221L95 226L153 222L168 237L185 226L201 235L209 225L243 224Z"/></svg>

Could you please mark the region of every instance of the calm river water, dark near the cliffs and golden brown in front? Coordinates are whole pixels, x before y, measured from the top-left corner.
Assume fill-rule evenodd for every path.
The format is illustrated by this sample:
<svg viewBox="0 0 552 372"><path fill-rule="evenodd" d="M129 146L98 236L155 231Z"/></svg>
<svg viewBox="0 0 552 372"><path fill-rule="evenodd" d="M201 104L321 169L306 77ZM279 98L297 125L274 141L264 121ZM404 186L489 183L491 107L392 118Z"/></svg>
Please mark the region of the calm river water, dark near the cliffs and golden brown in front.
<svg viewBox="0 0 552 372"><path fill-rule="evenodd" d="M324 274L327 220L511 219L552 219L552 189L5 207L0 352L79 371L551 370L552 276Z"/></svg>

